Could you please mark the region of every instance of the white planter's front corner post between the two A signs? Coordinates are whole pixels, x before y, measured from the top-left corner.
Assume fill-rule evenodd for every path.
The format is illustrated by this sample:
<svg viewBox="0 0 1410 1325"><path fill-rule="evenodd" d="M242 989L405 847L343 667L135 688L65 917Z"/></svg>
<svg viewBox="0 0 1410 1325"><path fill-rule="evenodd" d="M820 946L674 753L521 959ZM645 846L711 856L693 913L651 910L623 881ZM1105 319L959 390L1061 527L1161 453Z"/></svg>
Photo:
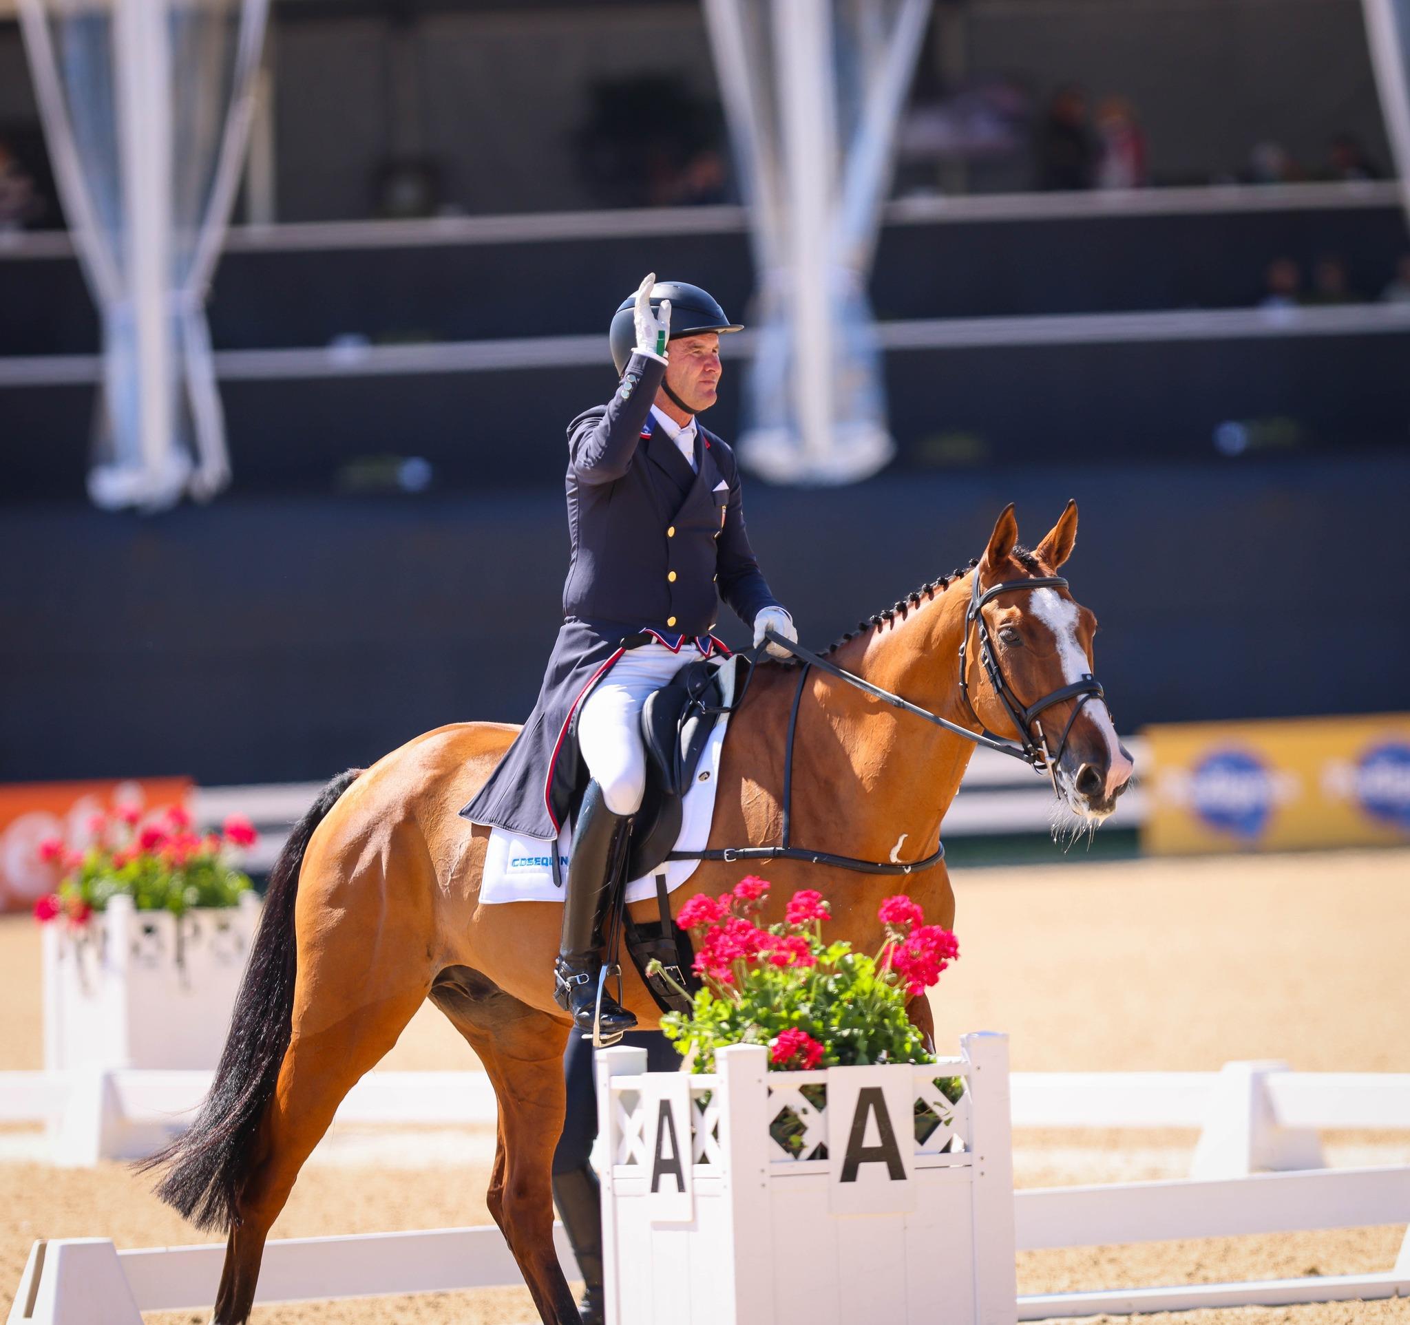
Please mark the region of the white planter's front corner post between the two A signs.
<svg viewBox="0 0 1410 1325"><path fill-rule="evenodd" d="M729 1204L730 1255L737 1315L721 1325L771 1325L773 1222L768 1204L768 1050L730 1044L715 1053L719 1077L719 1149Z"/></svg>

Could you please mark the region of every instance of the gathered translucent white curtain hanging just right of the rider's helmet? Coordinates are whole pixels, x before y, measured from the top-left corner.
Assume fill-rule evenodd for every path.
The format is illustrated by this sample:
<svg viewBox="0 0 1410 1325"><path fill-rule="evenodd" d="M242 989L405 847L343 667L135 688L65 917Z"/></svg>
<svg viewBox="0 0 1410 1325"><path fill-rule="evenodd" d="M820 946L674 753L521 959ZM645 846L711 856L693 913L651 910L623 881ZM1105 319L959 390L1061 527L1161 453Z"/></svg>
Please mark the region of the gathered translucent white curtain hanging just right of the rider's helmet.
<svg viewBox="0 0 1410 1325"><path fill-rule="evenodd" d="M867 278L931 0L705 0L759 290L740 454L845 483L894 454Z"/></svg>

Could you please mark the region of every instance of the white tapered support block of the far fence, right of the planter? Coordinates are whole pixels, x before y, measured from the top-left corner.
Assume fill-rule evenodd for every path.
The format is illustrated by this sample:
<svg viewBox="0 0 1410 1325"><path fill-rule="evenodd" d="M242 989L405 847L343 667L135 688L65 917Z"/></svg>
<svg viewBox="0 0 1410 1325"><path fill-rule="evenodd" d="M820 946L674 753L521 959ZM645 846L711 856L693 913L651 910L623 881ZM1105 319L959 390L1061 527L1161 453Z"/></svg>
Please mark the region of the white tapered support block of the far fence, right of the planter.
<svg viewBox="0 0 1410 1325"><path fill-rule="evenodd" d="M1279 1123L1268 1077L1289 1067L1279 1061L1225 1063L1210 1090L1193 1178L1237 1178L1259 1169L1324 1169L1321 1138L1310 1128Z"/></svg>

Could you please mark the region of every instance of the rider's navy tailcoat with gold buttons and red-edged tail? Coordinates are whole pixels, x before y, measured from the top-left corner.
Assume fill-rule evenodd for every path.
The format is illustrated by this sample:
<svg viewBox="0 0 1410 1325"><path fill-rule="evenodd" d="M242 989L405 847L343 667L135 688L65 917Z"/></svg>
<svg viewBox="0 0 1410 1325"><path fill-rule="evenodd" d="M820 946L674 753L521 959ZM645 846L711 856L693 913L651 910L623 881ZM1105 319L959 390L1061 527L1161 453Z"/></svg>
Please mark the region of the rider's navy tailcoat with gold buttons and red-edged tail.
<svg viewBox="0 0 1410 1325"><path fill-rule="evenodd" d="M749 546L733 451L697 424L691 472L654 426L664 375L633 354L612 400L568 426L563 626L529 720L461 811L474 823L556 837L584 778L575 719L626 648L653 634L709 654L725 647L711 634L721 598L746 624L778 606Z"/></svg>

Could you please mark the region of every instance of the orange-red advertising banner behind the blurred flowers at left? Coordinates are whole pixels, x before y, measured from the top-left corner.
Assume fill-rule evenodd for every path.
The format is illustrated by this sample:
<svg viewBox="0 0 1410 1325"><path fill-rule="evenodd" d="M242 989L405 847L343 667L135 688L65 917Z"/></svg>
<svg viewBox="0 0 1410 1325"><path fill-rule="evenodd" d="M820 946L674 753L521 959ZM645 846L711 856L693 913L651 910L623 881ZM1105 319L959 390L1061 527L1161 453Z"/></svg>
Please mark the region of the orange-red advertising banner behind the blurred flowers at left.
<svg viewBox="0 0 1410 1325"><path fill-rule="evenodd" d="M190 778L0 784L0 911L28 909L58 885L61 870L39 858L47 837L82 849L94 815L185 803L190 787Z"/></svg>

